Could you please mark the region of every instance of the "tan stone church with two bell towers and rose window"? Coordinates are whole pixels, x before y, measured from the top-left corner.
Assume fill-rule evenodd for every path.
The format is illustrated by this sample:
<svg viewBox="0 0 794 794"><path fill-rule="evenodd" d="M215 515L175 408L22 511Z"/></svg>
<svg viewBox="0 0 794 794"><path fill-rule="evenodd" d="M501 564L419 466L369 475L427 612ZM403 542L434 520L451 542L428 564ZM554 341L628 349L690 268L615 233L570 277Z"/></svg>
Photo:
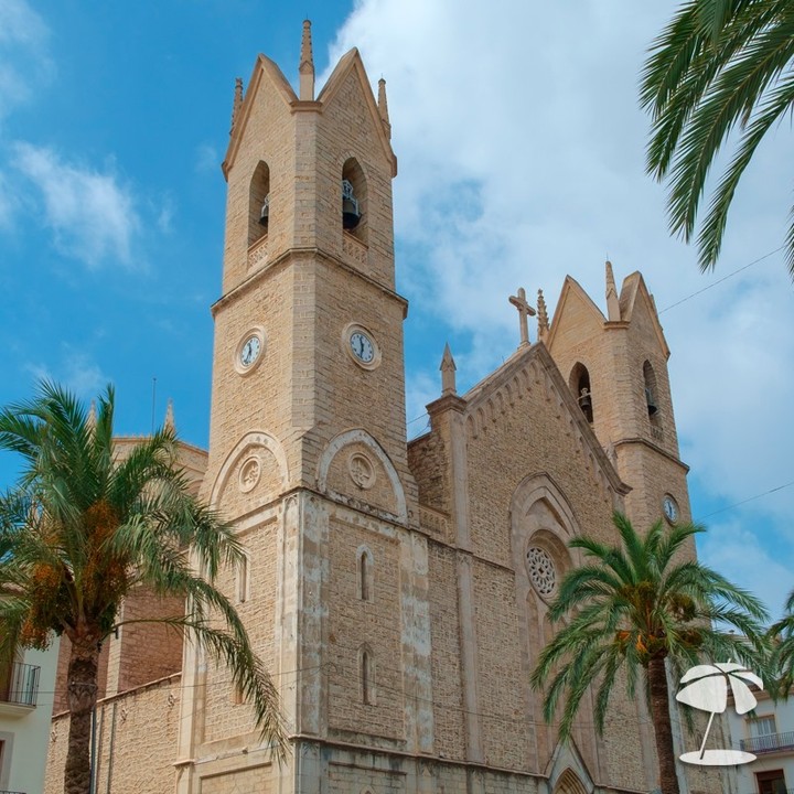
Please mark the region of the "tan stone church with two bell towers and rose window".
<svg viewBox="0 0 794 794"><path fill-rule="evenodd" d="M356 50L315 94L308 22L297 94L262 55L237 82L210 449L183 449L245 545L221 586L278 686L287 761L225 669L127 625L103 654L97 792L658 785L642 697L616 691L602 737L586 698L560 742L529 686L548 604L582 561L570 539L616 543L615 509L639 527L689 519L654 300L639 272L619 289L610 262L605 311L570 277L552 318L543 294L505 296L517 350L460 394L447 348L429 430L409 442L390 130L385 83L376 95ZM169 608L144 593L125 605ZM56 715L53 794L67 727ZM696 772L684 790L719 780Z"/></svg>

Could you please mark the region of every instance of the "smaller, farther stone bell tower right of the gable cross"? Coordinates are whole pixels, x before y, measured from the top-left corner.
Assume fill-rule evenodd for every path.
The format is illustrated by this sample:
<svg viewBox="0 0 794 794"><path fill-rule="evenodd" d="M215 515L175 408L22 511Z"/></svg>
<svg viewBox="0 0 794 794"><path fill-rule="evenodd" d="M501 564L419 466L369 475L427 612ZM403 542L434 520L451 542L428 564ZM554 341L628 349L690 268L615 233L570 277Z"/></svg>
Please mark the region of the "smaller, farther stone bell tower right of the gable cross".
<svg viewBox="0 0 794 794"><path fill-rule="evenodd" d="M570 277L546 345L621 480L639 528L663 515L689 521L688 468L680 461L667 360L656 305L639 272L618 294L605 265L607 316Z"/></svg>

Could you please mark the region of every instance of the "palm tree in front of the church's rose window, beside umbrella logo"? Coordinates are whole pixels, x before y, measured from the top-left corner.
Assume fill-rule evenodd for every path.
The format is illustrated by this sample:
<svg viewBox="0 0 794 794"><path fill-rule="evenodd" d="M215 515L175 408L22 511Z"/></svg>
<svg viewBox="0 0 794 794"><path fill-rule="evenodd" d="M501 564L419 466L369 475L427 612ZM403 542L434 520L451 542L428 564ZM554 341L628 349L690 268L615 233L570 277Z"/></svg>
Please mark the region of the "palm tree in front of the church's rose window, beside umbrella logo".
<svg viewBox="0 0 794 794"><path fill-rule="evenodd" d="M642 678L656 739L665 794L678 792L670 728L667 668L680 677L698 659L739 659L758 667L764 608L752 594L679 552L702 532L693 524L667 528L659 521L641 537L615 513L621 547L590 537L569 544L591 561L560 583L549 618L565 624L540 652L532 675L545 688L544 718L551 722L565 698L560 737L570 736L582 697L592 686L596 727L603 732L610 696L623 670L630 697ZM711 621L737 626L748 639L716 631Z"/></svg>

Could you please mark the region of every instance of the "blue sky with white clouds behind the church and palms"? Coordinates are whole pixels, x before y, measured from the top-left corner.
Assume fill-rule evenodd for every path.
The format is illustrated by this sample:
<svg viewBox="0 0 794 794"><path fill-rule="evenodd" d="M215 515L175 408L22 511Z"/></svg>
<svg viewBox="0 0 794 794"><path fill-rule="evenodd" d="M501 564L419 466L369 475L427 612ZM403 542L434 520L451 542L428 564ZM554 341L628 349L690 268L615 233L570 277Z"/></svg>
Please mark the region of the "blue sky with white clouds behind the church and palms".
<svg viewBox="0 0 794 794"><path fill-rule="evenodd" d="M784 239L791 131L760 151L717 272L700 275L644 174L636 101L674 8L0 0L0 404L42 376L86 398L112 382L118 430L146 433L157 378L154 420L171 397L181 434L206 444L234 78L265 52L294 83L308 14L319 86L353 45L387 79L412 433L444 342L462 388L513 352L517 287L544 288L551 310L570 272L603 308L603 260L619 281L640 269L673 351L701 557L777 611L794 487L752 497L794 481L794 292L780 251L718 282ZM12 479L0 458L0 485Z"/></svg>

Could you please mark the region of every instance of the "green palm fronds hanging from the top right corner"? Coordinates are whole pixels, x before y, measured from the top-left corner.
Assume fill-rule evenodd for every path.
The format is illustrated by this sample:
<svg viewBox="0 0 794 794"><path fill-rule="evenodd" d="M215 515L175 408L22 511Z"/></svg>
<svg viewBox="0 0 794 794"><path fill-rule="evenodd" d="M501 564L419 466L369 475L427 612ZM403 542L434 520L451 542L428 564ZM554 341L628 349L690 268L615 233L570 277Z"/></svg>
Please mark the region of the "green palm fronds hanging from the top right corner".
<svg viewBox="0 0 794 794"><path fill-rule="evenodd" d="M715 158L741 130L698 234L704 270L717 261L733 193L755 149L794 108L793 63L792 0L688 0L651 47L641 89L653 119L647 170L658 180L670 176L670 230L686 242ZM794 278L794 218L785 245Z"/></svg>

